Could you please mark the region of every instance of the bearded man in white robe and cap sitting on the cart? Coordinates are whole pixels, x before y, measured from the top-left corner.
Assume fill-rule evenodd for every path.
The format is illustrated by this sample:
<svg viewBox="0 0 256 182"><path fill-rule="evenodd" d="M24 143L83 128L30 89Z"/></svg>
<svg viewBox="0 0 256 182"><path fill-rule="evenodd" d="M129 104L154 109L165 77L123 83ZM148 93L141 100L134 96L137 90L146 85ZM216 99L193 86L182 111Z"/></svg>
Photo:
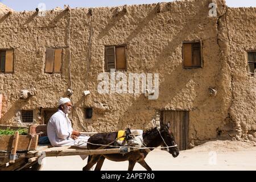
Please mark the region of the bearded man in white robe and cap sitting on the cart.
<svg viewBox="0 0 256 182"><path fill-rule="evenodd" d="M59 146L87 146L89 136L81 135L73 130L68 114L71 113L72 104L69 98L60 98L57 104L59 110L52 115L47 125L47 135L53 147Z"/></svg>

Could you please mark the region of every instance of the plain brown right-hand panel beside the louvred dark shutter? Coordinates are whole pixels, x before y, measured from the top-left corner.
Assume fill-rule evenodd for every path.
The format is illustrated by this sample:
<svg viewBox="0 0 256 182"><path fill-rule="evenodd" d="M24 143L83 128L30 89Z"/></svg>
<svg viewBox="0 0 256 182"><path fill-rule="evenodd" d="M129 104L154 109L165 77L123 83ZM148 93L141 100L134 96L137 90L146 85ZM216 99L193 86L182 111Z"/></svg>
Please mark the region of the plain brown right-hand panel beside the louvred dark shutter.
<svg viewBox="0 0 256 182"><path fill-rule="evenodd" d="M115 63L117 70L126 69L125 46L115 47Z"/></svg>

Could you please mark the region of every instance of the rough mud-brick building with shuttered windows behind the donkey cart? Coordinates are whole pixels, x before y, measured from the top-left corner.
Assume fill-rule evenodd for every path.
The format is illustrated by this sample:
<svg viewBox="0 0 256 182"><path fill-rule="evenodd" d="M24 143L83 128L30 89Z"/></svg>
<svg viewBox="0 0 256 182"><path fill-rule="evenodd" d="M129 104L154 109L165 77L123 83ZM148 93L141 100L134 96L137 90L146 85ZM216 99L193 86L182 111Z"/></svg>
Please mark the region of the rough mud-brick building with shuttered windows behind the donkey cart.
<svg viewBox="0 0 256 182"><path fill-rule="evenodd" d="M43 13L1 5L0 124L46 124L57 100L71 96L80 130L171 122L183 150L209 139L256 140L255 24L255 7L222 0ZM98 93L98 75L110 68L158 73L158 98Z"/></svg>

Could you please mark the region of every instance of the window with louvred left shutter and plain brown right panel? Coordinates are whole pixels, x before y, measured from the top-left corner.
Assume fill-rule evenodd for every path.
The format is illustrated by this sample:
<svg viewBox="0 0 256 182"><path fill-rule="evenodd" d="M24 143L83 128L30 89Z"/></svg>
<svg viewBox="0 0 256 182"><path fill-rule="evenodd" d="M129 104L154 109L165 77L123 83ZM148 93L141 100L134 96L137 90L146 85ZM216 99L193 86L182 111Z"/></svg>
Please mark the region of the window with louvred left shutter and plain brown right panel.
<svg viewBox="0 0 256 182"><path fill-rule="evenodd" d="M126 46L105 47L105 71L126 71Z"/></svg>

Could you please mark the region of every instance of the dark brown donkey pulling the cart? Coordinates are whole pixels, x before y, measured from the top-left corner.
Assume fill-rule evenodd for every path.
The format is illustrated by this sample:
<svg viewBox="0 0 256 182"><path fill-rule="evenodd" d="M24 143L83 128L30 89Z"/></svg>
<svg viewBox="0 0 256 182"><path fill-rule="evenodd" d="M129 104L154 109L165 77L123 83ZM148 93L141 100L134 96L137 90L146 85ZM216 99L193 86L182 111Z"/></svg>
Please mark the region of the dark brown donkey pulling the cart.
<svg viewBox="0 0 256 182"><path fill-rule="evenodd" d="M143 142L146 147L152 147L150 150L139 149L136 151L131 151L127 154L104 154L104 155L89 155L87 165L82 168L83 171L88 171L93 167L94 164L97 163L95 167L95 171L100 171L102 164L104 163L105 158L115 161L122 162L129 160L128 171L133 171L135 163L141 164L148 171L152 169L145 162L145 158L148 152L154 150L154 147L164 146L168 147L167 151L172 154L174 158L179 155L179 149L176 146L176 142L174 139L174 135L169 130L170 123L167 125L161 123L160 129L155 127L143 133ZM89 138L87 148L88 150L96 150L101 146L93 145L93 144L109 144L113 143L117 139L117 132L114 133L98 133ZM105 147L105 148L113 148L113 147Z"/></svg>

